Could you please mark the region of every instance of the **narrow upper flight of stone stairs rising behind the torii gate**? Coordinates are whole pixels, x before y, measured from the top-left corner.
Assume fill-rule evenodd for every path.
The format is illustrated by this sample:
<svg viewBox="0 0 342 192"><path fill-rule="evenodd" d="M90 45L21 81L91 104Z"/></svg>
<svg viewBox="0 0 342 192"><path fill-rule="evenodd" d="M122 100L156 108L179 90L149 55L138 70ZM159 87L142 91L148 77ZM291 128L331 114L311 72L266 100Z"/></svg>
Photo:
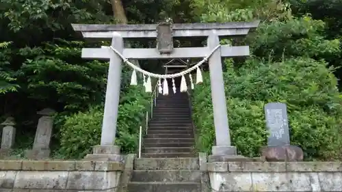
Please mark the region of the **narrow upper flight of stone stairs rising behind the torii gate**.
<svg viewBox="0 0 342 192"><path fill-rule="evenodd" d="M178 89L179 90L179 89ZM159 95L143 139L142 157L193 157L194 130L187 93Z"/></svg>

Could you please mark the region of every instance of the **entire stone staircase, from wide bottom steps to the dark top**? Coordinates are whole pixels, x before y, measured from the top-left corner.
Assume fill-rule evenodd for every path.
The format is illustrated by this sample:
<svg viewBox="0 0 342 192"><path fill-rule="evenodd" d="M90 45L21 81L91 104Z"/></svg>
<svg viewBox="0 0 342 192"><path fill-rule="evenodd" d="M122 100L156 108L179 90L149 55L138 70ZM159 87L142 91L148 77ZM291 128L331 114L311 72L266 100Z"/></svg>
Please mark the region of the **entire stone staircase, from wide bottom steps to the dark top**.
<svg viewBox="0 0 342 192"><path fill-rule="evenodd" d="M178 89L179 90L179 89ZM153 110L142 158L135 159L129 192L198 192L198 154L186 93L159 95Z"/></svg>

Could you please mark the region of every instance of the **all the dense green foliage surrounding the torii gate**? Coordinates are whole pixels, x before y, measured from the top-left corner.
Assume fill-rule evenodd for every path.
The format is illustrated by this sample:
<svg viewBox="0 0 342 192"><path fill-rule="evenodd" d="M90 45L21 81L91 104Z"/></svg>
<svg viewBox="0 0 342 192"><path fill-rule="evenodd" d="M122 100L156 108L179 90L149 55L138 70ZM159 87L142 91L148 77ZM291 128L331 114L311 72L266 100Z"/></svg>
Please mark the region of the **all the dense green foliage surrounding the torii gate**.
<svg viewBox="0 0 342 192"><path fill-rule="evenodd" d="M71 23L260 19L261 25L246 40L231 40L249 44L252 57L224 64L235 146L242 154L256 156L267 137L263 105L280 101L289 107L291 142L300 145L308 159L337 159L340 10L342 4L335 0L0 0L0 120L14 116L17 122L16 154L31 148L39 118L36 111L46 107L58 112L51 146L55 157L80 158L98 144L108 64L86 61L80 53L82 47L108 42L84 42ZM152 72L162 70L154 61L140 65ZM205 83L196 87L192 102L200 133L198 149L209 152L214 130L208 80L205 77ZM128 81L125 68L116 142L123 152L134 152L149 96L142 87L129 87Z"/></svg>

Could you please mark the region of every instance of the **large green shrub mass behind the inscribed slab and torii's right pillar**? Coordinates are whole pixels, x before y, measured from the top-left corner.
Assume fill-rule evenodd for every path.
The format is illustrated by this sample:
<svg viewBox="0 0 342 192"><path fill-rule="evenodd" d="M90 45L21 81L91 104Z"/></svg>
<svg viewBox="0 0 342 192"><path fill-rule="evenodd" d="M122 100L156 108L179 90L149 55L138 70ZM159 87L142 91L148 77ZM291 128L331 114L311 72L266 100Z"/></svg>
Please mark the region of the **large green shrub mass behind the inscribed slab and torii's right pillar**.
<svg viewBox="0 0 342 192"><path fill-rule="evenodd" d="M291 143L302 147L306 159L337 159L341 148L341 98L337 79L324 61L286 59L270 63L252 59L224 72L229 126L233 146L245 156L257 156L267 143L263 106L285 102ZM209 74L192 94L198 150L210 152L214 143Z"/></svg>

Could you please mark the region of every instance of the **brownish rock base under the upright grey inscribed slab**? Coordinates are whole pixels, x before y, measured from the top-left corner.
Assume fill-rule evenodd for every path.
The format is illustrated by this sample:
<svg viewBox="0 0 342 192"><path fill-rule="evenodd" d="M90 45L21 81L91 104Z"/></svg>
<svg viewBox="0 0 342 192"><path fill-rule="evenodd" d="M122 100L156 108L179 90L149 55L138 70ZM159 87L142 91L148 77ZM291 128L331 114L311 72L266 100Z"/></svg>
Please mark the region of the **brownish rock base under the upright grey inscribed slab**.
<svg viewBox="0 0 342 192"><path fill-rule="evenodd" d="M261 148L261 158L265 161L302 161L302 148L298 146L266 146Z"/></svg>

